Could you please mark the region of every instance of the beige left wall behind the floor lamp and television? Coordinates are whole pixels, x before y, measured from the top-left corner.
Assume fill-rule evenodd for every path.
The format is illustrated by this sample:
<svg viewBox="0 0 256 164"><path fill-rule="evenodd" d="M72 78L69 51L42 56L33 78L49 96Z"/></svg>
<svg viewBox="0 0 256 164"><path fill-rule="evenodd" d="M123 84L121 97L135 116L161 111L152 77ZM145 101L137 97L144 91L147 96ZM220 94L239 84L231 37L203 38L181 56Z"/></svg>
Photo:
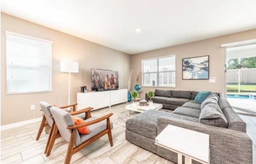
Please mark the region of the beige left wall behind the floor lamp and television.
<svg viewBox="0 0 256 164"><path fill-rule="evenodd" d="M5 30L53 41L52 92L6 95ZM1 13L1 125L41 117L39 101L67 104L68 73L60 72L60 60L74 60L80 65L79 73L71 74L71 103L76 103L80 86L90 88L91 68L119 71L120 88L127 88L129 54ZM36 110L30 110L31 104L36 105Z"/></svg>

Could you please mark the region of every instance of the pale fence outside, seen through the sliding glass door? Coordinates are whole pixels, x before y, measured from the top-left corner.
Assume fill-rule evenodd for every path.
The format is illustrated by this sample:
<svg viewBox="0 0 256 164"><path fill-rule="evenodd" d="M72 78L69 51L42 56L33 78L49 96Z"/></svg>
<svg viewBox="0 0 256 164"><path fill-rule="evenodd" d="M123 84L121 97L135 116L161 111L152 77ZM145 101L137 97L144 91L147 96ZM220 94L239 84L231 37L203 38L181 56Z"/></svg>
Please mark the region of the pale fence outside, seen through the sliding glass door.
<svg viewBox="0 0 256 164"><path fill-rule="evenodd" d="M238 70L227 70L227 82L238 83ZM256 83L256 68L240 69L240 83Z"/></svg>

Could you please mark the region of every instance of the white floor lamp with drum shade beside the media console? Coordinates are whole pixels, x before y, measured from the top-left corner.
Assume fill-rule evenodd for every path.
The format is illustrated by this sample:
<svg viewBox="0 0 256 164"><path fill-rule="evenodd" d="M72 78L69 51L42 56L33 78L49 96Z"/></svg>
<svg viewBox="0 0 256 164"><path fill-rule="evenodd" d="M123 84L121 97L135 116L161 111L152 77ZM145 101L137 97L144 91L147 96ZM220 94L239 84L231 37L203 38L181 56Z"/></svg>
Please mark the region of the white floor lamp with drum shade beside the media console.
<svg viewBox="0 0 256 164"><path fill-rule="evenodd" d="M68 105L70 105L70 73L79 72L79 63L74 61L60 61L60 72L68 72ZM70 110L70 109L69 109Z"/></svg>

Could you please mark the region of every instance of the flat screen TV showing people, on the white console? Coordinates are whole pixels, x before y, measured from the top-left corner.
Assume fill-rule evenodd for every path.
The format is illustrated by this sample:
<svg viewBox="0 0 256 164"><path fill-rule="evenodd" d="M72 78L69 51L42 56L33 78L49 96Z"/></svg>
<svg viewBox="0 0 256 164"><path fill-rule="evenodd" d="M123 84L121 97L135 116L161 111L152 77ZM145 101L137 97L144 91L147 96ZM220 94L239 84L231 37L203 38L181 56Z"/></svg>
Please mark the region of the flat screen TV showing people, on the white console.
<svg viewBox="0 0 256 164"><path fill-rule="evenodd" d="M118 71L91 69L92 90L115 90L118 89Z"/></svg>

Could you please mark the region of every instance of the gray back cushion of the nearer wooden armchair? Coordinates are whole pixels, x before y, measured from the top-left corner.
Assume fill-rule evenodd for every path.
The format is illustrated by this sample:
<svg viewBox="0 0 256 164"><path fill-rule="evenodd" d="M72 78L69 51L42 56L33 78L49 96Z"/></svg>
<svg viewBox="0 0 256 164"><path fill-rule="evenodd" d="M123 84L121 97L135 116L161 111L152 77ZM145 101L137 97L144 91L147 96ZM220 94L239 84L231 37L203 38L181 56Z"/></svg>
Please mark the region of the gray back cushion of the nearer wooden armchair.
<svg viewBox="0 0 256 164"><path fill-rule="evenodd" d="M67 129L68 126L75 125L70 114L60 108L51 107L50 111L54 118L54 121L58 127L60 135L69 142L72 130ZM79 136L78 131L76 130L76 138L75 138L75 145L78 146L81 144L81 138Z"/></svg>

